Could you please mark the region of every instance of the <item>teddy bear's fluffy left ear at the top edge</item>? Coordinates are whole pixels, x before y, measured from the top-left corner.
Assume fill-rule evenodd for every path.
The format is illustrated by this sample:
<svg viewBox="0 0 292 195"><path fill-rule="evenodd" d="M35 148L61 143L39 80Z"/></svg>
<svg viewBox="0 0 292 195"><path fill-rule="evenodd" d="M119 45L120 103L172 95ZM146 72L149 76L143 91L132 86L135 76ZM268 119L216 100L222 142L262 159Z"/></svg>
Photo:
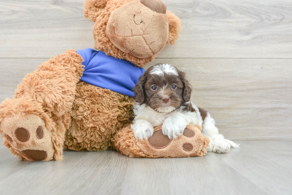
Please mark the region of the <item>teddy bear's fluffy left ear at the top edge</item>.
<svg viewBox="0 0 292 195"><path fill-rule="evenodd" d="M105 8L109 0L86 0L83 4L84 17L90 21L95 21L100 15L100 10Z"/></svg>

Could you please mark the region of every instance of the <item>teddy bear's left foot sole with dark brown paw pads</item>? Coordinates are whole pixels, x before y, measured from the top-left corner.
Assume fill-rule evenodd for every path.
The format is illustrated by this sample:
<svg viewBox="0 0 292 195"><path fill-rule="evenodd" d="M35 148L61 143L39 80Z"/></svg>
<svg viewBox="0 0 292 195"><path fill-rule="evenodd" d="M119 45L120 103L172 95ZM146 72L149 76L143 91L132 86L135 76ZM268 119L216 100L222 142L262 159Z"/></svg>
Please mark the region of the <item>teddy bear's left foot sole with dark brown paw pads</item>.
<svg viewBox="0 0 292 195"><path fill-rule="evenodd" d="M14 100L7 101L18 103ZM24 108L22 106L25 106L25 104L18 108ZM52 133L47 130L44 120L39 116L26 114L29 109L33 113L33 104L25 111L14 109L13 112L12 107L15 108L15 104L8 105L6 109L2 108L0 110L0 118L2 119L0 120L0 132L3 134L4 145L10 148L11 153L22 160L52 160L54 156ZM11 112L13 112L12 115Z"/></svg>

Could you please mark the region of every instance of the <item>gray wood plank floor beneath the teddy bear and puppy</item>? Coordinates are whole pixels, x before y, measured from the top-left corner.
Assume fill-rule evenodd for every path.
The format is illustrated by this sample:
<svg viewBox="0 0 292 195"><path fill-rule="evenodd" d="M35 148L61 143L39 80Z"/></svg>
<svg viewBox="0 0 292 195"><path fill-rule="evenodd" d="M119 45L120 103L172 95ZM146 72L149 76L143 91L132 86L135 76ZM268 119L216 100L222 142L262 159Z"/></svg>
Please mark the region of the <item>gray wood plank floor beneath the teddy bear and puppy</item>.
<svg viewBox="0 0 292 195"><path fill-rule="evenodd" d="M4 194L291 194L292 142L241 141L226 154L129 158L64 151L62 161L18 160L0 146ZM279 149L280 148L280 149Z"/></svg>

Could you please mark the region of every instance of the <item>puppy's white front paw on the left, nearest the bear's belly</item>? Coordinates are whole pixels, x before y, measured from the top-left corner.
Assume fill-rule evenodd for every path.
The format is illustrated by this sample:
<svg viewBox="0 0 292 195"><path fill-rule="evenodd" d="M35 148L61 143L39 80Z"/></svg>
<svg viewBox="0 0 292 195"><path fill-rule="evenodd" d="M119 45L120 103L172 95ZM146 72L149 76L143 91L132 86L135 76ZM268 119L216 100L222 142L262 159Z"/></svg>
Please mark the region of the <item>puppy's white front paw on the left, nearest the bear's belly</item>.
<svg viewBox="0 0 292 195"><path fill-rule="evenodd" d="M135 138L143 140L143 138L148 139L153 135L154 129L150 122L144 120L137 120L131 125L131 129L134 132Z"/></svg>

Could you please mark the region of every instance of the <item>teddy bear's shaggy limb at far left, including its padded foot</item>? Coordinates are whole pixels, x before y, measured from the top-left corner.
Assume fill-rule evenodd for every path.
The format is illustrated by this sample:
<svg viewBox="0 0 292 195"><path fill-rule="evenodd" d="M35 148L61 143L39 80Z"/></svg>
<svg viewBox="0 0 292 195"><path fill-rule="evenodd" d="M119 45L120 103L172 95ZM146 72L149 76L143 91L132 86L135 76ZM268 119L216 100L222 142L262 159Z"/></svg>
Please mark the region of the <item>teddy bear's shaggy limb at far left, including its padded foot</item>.
<svg viewBox="0 0 292 195"><path fill-rule="evenodd" d="M19 159L61 160L82 57L67 50L27 74L13 100L0 105L4 145Z"/></svg>

